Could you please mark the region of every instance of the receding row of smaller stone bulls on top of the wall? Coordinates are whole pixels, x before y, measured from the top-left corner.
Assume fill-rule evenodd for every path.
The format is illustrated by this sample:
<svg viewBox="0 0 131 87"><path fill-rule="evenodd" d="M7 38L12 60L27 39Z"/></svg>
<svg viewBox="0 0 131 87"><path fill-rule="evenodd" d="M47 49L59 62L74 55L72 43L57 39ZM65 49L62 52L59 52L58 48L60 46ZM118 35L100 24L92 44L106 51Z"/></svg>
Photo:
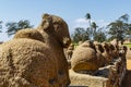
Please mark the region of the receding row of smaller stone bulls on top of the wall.
<svg viewBox="0 0 131 87"><path fill-rule="evenodd" d="M120 53L121 51L122 54ZM112 45L109 42L99 44L97 41L84 41L74 49L70 45L67 49L67 59L71 62L74 71L79 70L97 70L104 65L112 63L119 57L126 58L127 47Z"/></svg>

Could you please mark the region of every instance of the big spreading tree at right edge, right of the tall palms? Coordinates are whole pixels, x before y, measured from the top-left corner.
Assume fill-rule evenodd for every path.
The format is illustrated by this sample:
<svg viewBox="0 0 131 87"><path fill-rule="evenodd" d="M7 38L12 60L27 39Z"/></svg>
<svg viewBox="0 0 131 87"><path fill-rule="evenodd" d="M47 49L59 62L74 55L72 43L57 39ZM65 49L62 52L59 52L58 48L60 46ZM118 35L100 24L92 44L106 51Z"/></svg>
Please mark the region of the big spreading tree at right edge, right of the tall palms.
<svg viewBox="0 0 131 87"><path fill-rule="evenodd" d="M123 40L128 35L131 35L131 24L128 24L128 20L129 15L124 14L108 25L108 34L111 35L111 39Z"/></svg>

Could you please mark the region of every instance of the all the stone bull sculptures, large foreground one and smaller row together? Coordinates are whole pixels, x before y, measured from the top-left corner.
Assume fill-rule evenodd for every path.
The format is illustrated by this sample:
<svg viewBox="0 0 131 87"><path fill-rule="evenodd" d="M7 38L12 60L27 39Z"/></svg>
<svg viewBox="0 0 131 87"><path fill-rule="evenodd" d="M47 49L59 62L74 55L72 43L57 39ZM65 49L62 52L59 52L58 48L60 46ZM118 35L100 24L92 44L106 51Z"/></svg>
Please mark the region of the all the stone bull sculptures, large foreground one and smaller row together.
<svg viewBox="0 0 131 87"><path fill-rule="evenodd" d="M19 30L13 39L0 45L0 87L68 87L63 48L70 44L67 23L59 16L44 14L38 27ZM106 42L85 41L73 49L73 45L68 48L68 58L71 69L80 73L94 72L119 55L117 46ZM121 55L126 55L126 50Z"/></svg>

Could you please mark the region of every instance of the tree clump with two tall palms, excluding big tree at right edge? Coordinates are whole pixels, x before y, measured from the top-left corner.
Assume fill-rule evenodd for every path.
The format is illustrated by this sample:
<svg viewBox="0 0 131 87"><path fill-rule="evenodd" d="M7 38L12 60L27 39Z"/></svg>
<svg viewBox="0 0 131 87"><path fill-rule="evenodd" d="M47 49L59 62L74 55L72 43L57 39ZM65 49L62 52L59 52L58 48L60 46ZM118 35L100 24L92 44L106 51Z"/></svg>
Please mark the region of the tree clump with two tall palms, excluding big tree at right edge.
<svg viewBox="0 0 131 87"><path fill-rule="evenodd" d="M106 40L106 35L103 30L103 28L98 28L97 29L97 25L95 22L91 23L91 14L87 13L85 15L85 18L88 20L88 24L90 27L87 27L86 29L78 27L74 30L74 34L72 35L72 39L74 42L79 42L79 41L85 41L85 40L96 40L99 42L103 42Z"/></svg>

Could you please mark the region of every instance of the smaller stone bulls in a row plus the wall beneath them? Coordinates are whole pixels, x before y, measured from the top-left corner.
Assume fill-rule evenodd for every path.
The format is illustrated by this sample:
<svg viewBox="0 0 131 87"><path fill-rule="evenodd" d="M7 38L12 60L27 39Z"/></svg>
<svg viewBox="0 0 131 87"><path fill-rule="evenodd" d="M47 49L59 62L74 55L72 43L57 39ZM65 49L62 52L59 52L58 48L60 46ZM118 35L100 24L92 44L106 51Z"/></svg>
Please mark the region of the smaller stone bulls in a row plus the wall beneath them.
<svg viewBox="0 0 131 87"><path fill-rule="evenodd" d="M70 54L68 50L67 54ZM81 42L72 50L71 58L67 58L71 65L71 85L119 87L126 75L127 50L126 46L117 42Z"/></svg>

